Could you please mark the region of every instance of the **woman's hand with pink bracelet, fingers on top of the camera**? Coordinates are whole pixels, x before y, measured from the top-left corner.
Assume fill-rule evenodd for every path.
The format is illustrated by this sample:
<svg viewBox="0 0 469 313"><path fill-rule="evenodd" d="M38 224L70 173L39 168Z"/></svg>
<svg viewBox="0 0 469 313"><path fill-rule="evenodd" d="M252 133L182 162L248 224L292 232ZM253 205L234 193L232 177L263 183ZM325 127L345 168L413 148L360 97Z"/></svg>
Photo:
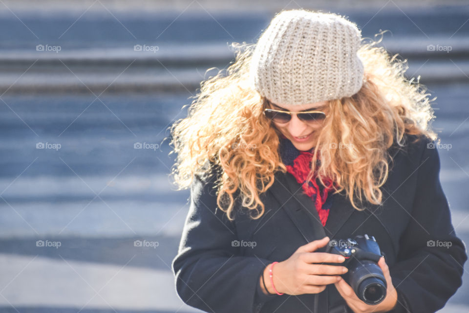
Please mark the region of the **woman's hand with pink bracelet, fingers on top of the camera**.
<svg viewBox="0 0 469 313"><path fill-rule="evenodd" d="M345 258L341 255L314 252L327 245L329 237L312 241L298 249L285 261L274 265L272 273L275 289L280 293L298 295L303 293L319 293L326 285L334 284L340 280L340 275L347 272L344 266L325 265L320 263L341 263ZM270 286L270 266L266 268ZM266 280L267 283L267 280Z"/></svg>

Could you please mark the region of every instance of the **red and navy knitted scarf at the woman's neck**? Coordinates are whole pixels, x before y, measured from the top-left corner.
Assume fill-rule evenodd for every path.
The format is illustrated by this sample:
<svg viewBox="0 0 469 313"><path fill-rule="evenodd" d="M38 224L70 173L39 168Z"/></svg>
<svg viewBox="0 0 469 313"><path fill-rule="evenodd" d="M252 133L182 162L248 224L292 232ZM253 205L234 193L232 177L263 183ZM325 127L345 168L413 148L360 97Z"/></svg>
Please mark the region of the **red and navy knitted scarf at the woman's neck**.
<svg viewBox="0 0 469 313"><path fill-rule="evenodd" d="M306 178L311 170L311 158L314 154L314 148L308 151L298 150L293 143L280 134L280 156L283 164L285 164L287 171L292 174L297 182L301 184L303 191L308 195L316 206L321 224L325 226L327 217L329 216L329 209L332 205L331 197L327 198L330 190L332 190L333 181L331 179L323 179L327 186L323 186L316 176L306 183ZM318 156L319 158L319 156ZM318 159L317 164L320 164ZM316 174L316 173L315 173ZM319 197L318 197L319 195Z"/></svg>

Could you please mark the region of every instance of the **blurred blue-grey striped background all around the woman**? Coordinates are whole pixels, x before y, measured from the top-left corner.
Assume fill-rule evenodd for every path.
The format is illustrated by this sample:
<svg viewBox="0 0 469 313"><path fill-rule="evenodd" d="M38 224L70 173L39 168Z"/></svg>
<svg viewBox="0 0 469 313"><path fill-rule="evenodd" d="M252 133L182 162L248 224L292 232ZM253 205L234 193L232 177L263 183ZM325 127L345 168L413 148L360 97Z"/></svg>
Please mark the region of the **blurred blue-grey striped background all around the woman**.
<svg viewBox="0 0 469 313"><path fill-rule="evenodd" d="M171 272L190 194L165 137L229 44L295 8L388 30L437 97L440 178L469 241L467 1L0 0L1 312L201 312ZM468 270L440 312L469 312Z"/></svg>

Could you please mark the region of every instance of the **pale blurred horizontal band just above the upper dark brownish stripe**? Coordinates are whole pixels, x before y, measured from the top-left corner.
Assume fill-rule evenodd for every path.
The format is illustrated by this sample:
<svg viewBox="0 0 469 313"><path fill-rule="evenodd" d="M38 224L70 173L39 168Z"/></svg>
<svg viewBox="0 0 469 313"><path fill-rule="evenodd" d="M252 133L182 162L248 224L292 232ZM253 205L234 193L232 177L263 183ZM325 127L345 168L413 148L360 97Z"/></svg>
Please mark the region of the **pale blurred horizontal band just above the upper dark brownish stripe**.
<svg viewBox="0 0 469 313"><path fill-rule="evenodd" d="M364 43L380 37L366 37ZM160 62L166 66L187 67L191 65L227 62L234 58L235 47L228 42L206 43L158 43L140 42L137 44L121 43L120 45L100 47L86 45L52 45L39 44L23 48L0 50L0 66L31 64L38 65L126 65L130 61L136 64L154 64ZM382 42L390 53L399 53L404 58L412 59L468 59L469 37L434 35L425 36L392 35L384 33ZM160 64L161 66L161 64Z"/></svg>

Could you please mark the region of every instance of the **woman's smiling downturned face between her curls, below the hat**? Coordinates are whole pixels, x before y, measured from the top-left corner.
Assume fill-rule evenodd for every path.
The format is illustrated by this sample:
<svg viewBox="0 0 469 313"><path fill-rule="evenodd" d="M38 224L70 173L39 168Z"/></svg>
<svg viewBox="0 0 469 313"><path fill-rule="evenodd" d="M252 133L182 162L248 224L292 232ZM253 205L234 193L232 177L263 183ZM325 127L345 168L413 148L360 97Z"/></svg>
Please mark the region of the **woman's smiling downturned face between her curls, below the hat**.
<svg viewBox="0 0 469 313"><path fill-rule="evenodd" d="M267 107L274 110L283 110L291 112L299 111L321 111L328 113L327 101L302 104L302 105L287 105L287 104L274 104L270 101L267 102ZM308 151L316 146L316 141L320 128L323 125L322 121L315 121L312 123L305 123L298 119L296 114L292 115L292 118L287 123L278 123L273 121L274 126L280 131L285 137L290 139L293 145L300 151ZM298 138L308 136L307 138Z"/></svg>

